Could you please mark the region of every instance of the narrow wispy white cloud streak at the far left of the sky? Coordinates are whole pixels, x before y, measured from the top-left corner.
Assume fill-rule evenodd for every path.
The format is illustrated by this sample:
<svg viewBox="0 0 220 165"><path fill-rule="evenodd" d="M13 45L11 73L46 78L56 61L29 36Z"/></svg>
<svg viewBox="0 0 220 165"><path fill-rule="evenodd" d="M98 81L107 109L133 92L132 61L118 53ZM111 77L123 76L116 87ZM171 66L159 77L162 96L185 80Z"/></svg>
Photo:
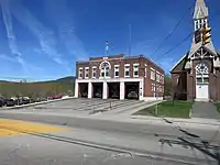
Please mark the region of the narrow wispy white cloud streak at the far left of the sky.
<svg viewBox="0 0 220 165"><path fill-rule="evenodd" d="M18 45L16 45L16 38L15 38L14 32L13 32L13 24L12 24L11 12L10 12L8 1L1 0L0 6L1 6L1 10L2 10L3 22L6 25L6 30L7 30L7 36L8 36L8 41L9 41L10 51L11 51L12 55L15 56L16 61L22 65L24 72L28 73L26 65L22 58L22 54L19 51Z"/></svg>

